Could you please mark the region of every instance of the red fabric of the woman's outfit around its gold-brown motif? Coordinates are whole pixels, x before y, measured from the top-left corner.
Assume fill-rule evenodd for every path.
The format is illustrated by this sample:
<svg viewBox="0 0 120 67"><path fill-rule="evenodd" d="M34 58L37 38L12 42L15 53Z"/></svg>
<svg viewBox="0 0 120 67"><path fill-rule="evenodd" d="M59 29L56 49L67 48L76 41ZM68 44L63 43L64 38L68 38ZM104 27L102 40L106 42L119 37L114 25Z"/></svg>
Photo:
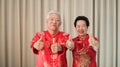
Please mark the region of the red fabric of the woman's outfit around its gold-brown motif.
<svg viewBox="0 0 120 67"><path fill-rule="evenodd" d="M95 40L97 40L95 38ZM81 37L77 36L73 38L73 42L75 44L75 48L72 51L73 53L73 67L79 67L80 61L80 53L79 51L83 48L88 48L89 46L89 35L85 36L83 39ZM90 56L91 63L89 64L89 67L97 67L96 64L96 51L93 49L92 46L89 46L89 48L86 51L86 54Z"/></svg>

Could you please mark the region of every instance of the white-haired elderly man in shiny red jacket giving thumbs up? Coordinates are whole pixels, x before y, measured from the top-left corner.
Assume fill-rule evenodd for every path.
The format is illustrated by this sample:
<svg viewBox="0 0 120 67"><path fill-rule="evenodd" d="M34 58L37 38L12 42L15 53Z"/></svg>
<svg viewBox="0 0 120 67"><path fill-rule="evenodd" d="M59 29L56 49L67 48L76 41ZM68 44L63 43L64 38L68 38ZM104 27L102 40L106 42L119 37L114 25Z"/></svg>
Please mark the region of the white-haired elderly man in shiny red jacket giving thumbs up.
<svg viewBox="0 0 120 67"><path fill-rule="evenodd" d="M33 52L38 56L36 67L67 67L66 50L74 46L70 35L59 31L60 14L50 11L46 23L48 29L37 32L31 43Z"/></svg>

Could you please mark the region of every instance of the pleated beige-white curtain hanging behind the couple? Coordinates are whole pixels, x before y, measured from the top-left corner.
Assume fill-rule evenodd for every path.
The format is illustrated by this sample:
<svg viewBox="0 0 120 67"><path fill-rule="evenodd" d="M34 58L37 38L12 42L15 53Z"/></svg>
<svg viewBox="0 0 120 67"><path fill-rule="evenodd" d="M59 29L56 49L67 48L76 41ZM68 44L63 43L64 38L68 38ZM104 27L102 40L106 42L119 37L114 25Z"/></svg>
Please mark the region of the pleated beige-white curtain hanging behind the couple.
<svg viewBox="0 0 120 67"><path fill-rule="evenodd" d="M0 0L0 67L35 67L30 41L46 29L49 10L61 14L60 30L77 36L73 22L78 15L90 20L89 33L99 39L99 67L120 67L119 0ZM72 67L67 51L68 67Z"/></svg>

